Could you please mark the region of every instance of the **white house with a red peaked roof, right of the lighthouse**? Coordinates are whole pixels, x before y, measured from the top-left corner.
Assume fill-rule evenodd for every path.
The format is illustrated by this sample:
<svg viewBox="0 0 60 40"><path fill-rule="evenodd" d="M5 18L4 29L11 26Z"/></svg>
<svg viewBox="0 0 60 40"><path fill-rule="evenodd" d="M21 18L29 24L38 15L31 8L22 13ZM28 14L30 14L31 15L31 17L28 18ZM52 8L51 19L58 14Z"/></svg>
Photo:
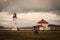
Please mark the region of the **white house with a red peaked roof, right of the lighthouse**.
<svg viewBox="0 0 60 40"><path fill-rule="evenodd" d="M37 22L36 27L38 26L39 30L50 30L50 27L48 27L48 22L44 19Z"/></svg>

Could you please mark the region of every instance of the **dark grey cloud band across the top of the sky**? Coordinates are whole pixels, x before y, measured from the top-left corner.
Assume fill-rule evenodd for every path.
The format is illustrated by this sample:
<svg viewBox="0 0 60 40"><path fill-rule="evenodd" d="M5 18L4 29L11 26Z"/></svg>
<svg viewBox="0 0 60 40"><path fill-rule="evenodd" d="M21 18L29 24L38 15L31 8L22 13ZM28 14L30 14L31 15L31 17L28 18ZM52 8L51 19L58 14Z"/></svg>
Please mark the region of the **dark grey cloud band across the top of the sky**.
<svg viewBox="0 0 60 40"><path fill-rule="evenodd" d="M60 0L9 0L7 7L3 7L2 11L53 11L60 10ZM3 3L4 4L4 3Z"/></svg>

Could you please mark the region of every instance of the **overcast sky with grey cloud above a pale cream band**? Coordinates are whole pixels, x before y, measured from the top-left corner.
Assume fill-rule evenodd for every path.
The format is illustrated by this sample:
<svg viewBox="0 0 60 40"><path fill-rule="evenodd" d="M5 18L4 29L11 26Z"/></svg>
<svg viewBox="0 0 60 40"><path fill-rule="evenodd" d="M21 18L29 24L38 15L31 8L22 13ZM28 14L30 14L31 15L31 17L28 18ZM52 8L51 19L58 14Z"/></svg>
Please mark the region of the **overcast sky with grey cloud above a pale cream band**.
<svg viewBox="0 0 60 40"><path fill-rule="evenodd" d="M17 13L17 26L34 26L42 18L60 25L60 0L0 0L0 25L12 27L12 13Z"/></svg>

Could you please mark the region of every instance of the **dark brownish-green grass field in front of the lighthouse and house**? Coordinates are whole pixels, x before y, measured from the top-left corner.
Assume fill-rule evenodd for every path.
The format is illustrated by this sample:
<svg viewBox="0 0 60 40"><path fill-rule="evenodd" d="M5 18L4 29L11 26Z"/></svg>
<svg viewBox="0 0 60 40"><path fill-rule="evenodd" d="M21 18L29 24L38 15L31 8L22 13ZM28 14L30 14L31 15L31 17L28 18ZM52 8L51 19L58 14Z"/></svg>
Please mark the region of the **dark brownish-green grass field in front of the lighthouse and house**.
<svg viewBox="0 0 60 40"><path fill-rule="evenodd" d="M0 40L60 40L60 31L0 31Z"/></svg>

